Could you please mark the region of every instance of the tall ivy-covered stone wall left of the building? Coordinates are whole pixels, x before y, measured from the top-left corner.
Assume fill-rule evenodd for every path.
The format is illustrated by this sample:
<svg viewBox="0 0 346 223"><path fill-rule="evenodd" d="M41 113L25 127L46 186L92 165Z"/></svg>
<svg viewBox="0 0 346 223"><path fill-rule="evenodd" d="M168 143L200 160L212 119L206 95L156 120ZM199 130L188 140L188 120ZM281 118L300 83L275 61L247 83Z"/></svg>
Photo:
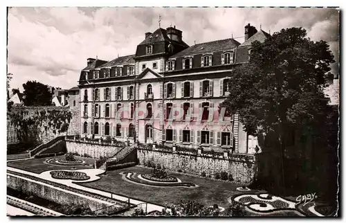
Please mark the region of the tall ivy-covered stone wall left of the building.
<svg viewBox="0 0 346 223"><path fill-rule="evenodd" d="M69 107L13 107L7 114L8 144L46 143L66 135L70 121Z"/></svg>

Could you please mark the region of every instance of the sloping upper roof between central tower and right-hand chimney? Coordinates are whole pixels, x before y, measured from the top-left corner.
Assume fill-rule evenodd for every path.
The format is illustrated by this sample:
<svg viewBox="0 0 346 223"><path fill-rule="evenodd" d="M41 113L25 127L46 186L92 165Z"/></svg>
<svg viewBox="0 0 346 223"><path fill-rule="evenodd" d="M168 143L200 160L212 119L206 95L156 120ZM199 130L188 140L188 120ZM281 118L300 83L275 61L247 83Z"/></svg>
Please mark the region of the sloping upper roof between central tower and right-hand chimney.
<svg viewBox="0 0 346 223"><path fill-rule="evenodd" d="M215 51L226 51L228 49L236 48L239 46L239 42L235 39L219 39L212 42L204 42L201 44L195 44L186 48L179 53L172 55L171 57L181 57L184 55L194 55L199 53L212 53Z"/></svg>

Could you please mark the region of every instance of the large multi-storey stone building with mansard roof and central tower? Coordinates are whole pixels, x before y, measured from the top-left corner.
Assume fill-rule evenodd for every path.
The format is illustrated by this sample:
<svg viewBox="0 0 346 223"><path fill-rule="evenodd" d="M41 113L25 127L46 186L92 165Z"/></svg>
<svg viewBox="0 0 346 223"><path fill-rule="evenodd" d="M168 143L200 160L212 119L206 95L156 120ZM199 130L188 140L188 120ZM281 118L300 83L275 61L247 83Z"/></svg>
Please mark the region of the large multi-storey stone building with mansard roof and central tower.
<svg viewBox="0 0 346 223"><path fill-rule="evenodd" d="M188 46L174 27L145 33L135 55L89 58L80 75L80 135L252 153L239 116L219 109L235 64L269 35L248 24L245 41Z"/></svg>

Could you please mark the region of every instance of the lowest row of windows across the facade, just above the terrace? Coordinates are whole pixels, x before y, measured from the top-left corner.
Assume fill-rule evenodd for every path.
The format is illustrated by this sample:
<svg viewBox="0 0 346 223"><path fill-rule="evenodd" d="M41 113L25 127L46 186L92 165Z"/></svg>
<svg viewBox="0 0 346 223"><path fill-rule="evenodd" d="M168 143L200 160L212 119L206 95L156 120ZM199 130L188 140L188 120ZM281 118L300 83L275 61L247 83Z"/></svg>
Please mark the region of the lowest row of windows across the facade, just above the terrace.
<svg viewBox="0 0 346 223"><path fill-rule="evenodd" d="M102 124L103 125L103 124ZM83 134L95 134L95 135L104 135L110 136L111 130L113 128L112 124L104 123L104 129L102 126L102 132L100 131L100 124L95 122L90 126L90 132L88 131L88 123L84 122L83 124ZM125 133L125 128L120 124L117 124L113 128L113 136L116 137L125 137L125 135L129 138L133 138L135 134L134 124L130 123L127 132ZM183 130L179 130L179 137L177 139L176 130L172 129L172 127L168 126L165 131L163 131L162 139L166 142L176 142L179 141L181 143L194 143L194 131L189 130L188 127L185 127ZM152 125L145 126L145 139L146 141L152 141L154 138ZM201 131L197 131L197 143L204 145L225 145L225 146L233 146L233 133L230 131L228 127L225 127L221 132L217 132L216 141L214 141L215 132L210 131L208 127L204 127Z"/></svg>

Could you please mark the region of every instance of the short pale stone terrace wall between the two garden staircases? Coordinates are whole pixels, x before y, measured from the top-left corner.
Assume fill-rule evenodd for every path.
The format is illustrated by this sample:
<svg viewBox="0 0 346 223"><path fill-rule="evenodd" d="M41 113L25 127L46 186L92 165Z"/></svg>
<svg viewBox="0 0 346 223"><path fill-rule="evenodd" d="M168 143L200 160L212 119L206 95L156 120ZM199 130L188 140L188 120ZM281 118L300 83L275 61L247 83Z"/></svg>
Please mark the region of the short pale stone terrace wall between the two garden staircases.
<svg viewBox="0 0 346 223"><path fill-rule="evenodd" d="M92 158L109 157L109 154L121 150L113 145L100 145L98 143L83 143L79 141L66 141L67 152L77 152L81 156L88 154Z"/></svg>

